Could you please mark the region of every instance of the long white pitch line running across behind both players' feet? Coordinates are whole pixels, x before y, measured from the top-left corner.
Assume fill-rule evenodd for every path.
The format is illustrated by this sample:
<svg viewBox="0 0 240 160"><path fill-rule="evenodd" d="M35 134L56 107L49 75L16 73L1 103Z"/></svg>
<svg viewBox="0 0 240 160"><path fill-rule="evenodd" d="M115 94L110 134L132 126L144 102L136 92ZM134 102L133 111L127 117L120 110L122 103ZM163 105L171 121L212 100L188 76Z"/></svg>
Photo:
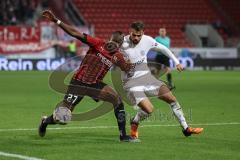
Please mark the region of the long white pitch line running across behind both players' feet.
<svg viewBox="0 0 240 160"><path fill-rule="evenodd" d="M224 126L224 125L240 125L240 122L229 122L229 123L196 123L190 124L192 126ZM142 125L141 127L176 127L179 124L149 124ZM117 128L117 126L89 126L89 127L58 127L58 128L48 128L48 130L67 130L67 129L108 129ZM12 128L12 129L0 129L0 132L14 132L14 131L36 131L37 128Z"/></svg>

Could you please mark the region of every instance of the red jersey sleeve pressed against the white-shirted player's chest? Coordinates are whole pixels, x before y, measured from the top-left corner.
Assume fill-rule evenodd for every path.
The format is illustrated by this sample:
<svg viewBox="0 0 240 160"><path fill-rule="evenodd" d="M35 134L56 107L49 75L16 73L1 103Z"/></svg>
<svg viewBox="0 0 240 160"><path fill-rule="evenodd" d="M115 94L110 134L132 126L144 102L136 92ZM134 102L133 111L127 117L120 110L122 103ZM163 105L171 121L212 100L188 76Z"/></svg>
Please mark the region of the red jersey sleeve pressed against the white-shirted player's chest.
<svg viewBox="0 0 240 160"><path fill-rule="evenodd" d="M132 68L132 64L130 63L130 61L125 60L123 54L120 52L114 54L113 63L125 72L129 72Z"/></svg>

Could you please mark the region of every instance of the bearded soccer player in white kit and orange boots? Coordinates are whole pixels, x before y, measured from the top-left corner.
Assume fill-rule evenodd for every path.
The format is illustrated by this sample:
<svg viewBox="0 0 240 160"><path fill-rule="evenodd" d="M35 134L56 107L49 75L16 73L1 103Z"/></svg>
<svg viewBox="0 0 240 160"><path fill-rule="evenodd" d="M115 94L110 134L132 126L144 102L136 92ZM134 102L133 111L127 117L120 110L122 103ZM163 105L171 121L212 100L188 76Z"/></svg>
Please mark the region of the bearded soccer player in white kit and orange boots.
<svg viewBox="0 0 240 160"><path fill-rule="evenodd" d="M186 137L201 133L203 128L188 126L180 104L166 84L151 75L147 66L147 53L150 49L161 51L174 61L179 72L183 71L182 65L167 47L156 42L152 37L144 35L144 24L142 22L131 24L129 35L125 36L121 48L121 52L134 64L131 73L122 72L123 87L131 103L140 108L131 120L131 136L138 138L139 122L153 112L153 105L148 98L149 96L156 96L170 105Z"/></svg>

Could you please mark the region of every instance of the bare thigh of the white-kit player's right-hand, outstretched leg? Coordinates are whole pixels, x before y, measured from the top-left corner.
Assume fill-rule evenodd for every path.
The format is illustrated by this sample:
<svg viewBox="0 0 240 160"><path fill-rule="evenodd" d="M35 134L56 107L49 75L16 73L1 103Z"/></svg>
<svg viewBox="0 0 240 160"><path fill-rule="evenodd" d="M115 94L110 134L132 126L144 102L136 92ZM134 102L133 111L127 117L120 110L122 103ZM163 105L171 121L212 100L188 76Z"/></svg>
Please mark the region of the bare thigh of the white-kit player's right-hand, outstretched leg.
<svg viewBox="0 0 240 160"><path fill-rule="evenodd" d="M166 85L162 85L159 89L158 98L166 103L172 103L176 101L176 97L172 94Z"/></svg>

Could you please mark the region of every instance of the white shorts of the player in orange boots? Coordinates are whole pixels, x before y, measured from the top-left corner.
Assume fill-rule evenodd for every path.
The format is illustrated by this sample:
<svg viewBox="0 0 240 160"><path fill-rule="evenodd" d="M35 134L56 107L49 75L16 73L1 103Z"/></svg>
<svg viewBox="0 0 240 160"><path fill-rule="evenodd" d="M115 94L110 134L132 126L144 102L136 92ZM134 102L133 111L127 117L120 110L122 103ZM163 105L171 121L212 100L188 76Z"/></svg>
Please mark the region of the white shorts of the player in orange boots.
<svg viewBox="0 0 240 160"><path fill-rule="evenodd" d="M163 85L165 85L164 82L157 80L149 73L126 81L123 88L132 105L138 105L147 97L157 97L159 89Z"/></svg>

